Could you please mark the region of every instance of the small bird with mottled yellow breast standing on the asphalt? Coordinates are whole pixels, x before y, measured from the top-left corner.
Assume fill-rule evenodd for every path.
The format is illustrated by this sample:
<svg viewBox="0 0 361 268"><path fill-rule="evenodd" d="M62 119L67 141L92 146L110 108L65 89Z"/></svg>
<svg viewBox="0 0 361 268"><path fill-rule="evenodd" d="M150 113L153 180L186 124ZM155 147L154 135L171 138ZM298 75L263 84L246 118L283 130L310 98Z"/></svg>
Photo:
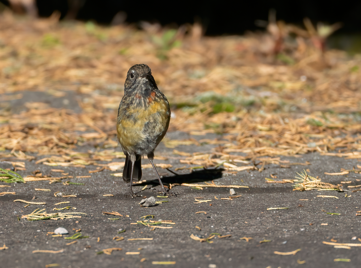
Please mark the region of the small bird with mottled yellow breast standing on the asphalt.
<svg viewBox="0 0 361 268"><path fill-rule="evenodd" d="M169 102L158 89L151 69L145 64L132 66L127 73L117 118L118 145L126 155L123 180L130 181L129 194L132 197L132 182L142 177L144 154L157 173L163 194L166 194L153 159L154 150L165 136L169 121Z"/></svg>

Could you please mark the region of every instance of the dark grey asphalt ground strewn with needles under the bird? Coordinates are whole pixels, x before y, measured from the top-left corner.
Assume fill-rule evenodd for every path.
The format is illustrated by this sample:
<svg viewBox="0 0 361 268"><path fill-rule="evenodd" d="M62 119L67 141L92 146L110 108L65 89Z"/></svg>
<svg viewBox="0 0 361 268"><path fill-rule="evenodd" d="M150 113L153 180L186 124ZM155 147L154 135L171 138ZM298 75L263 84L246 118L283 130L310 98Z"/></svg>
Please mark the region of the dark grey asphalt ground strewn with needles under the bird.
<svg viewBox="0 0 361 268"><path fill-rule="evenodd" d="M56 102L55 102L56 103ZM214 139L213 134L207 136L192 136L195 139ZM170 139L187 139L189 135L183 132L168 133ZM210 152L214 145L185 146L174 149L186 152ZM87 151L88 147L78 147L75 151ZM173 170L184 166L179 160L172 158L173 149L166 148L162 143L156 149L156 155L169 157L168 160L155 160L155 163L170 163ZM174 155L173 155L174 156ZM40 158L36 156L32 161L25 161L26 171L19 171L23 176L30 175L32 171L40 170L43 174L51 173L52 168L59 168L71 176L87 176L89 170L96 166L78 167L52 167L44 164L35 164ZM63 185L62 183L49 184L49 181L31 181L26 184L11 184L10 188L0 188L1 192L16 192L16 195L6 194L0 196L0 247L5 244L8 249L0 250L0 267L52 267L49 264L58 264L59 267L360 267L360 247L351 249L334 248L322 242L337 241L338 243L360 243L361 216L356 212L361 210L360 192L336 191L292 191L292 184L266 183L265 177L271 174L277 180L293 179L297 172L304 168L309 169L312 176L320 176L322 181L340 183L352 181L347 185L360 184L358 173L348 175L325 175L324 172L340 172L340 168L352 169L359 163L357 159L343 159L338 157L321 156L318 153L300 155L300 157L281 157L291 162L309 161L310 165L292 165L281 168L277 165L267 165L262 172L257 170L240 171L235 175L227 175L221 169L217 170L189 170L177 171L179 176L158 169L163 177L162 181L168 183L210 183L212 180L218 185L247 185L249 188L235 189L241 197L233 200L230 188L207 188L203 190L186 186L175 186L167 200L154 207L141 207L139 202L125 197L129 186L121 177L114 177L114 171L103 170L92 173L91 178L79 178L72 181L84 185ZM12 159L0 159L0 161ZM119 159L123 161L124 159ZM145 159L143 163L147 164ZM104 162L106 163L106 162ZM5 165L3 163L3 165ZM117 171L121 172L121 171ZM57 176L52 173L52 175ZM134 187L141 190L146 197L157 196L160 186L152 169L143 170L146 183ZM0 183L6 185L6 183ZM347 190L344 184L344 189ZM154 186L153 188L151 186ZM50 192L36 191L35 188L51 189ZM55 193L60 191L63 195L73 194L76 197L61 197ZM345 197L345 193L351 195ZM113 194L114 196L104 196ZM338 199L317 197L317 195L332 195ZM32 200L33 197L36 197ZM203 198L200 198L203 197ZM210 202L195 203L195 199L209 199ZM216 199L218 198L218 199ZM46 205L30 205L13 202L23 199L33 202L45 202ZM308 200L300 200L308 199ZM69 204L55 206L58 202L70 201ZM211 205L212 204L212 205ZM77 210L65 212L83 212L86 216L77 219L39 220L29 221L21 218L30 214L36 208L46 208L53 213L53 208L65 206L76 207ZM288 207L288 209L267 210L273 207ZM117 211L123 216L106 215L102 212ZM204 211L206 214L196 212ZM340 215L330 215L335 212ZM128 216L127 216L128 215ZM153 220L171 220L175 224L165 226L173 228L156 228L136 223L142 216L154 215ZM109 219L110 218L110 219ZM111 220L119 218L118 220ZM327 224L327 225L326 225ZM69 234L63 237L53 237L58 227L64 227ZM198 227L198 228L197 228ZM82 236L77 240L64 239L70 237L81 229ZM119 230L126 230L119 233ZM79 231L78 231L79 232ZM190 236L207 238L212 233L219 233L224 238L213 238L209 243L193 240ZM113 240L114 237L124 237L123 240ZM247 242L242 237L252 238ZM130 238L153 238L153 240L135 240ZM332 239L332 241L331 241ZM260 243L260 241L269 241ZM72 241L77 241L66 245ZM104 249L121 248L113 251L111 255L98 254ZM34 250L63 250L62 253L33 253ZM300 249L295 255L278 255L278 252L290 252ZM103 251L104 252L104 251ZM132 255L127 252L139 252ZM335 262L335 259L349 259L349 262ZM153 264L152 262L175 262L174 264ZM46 266L48 265L48 266Z"/></svg>

